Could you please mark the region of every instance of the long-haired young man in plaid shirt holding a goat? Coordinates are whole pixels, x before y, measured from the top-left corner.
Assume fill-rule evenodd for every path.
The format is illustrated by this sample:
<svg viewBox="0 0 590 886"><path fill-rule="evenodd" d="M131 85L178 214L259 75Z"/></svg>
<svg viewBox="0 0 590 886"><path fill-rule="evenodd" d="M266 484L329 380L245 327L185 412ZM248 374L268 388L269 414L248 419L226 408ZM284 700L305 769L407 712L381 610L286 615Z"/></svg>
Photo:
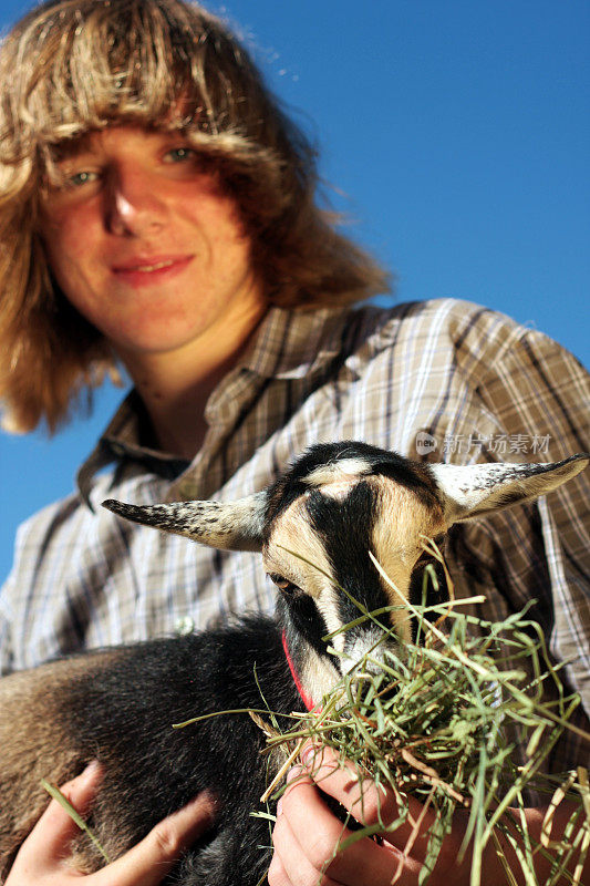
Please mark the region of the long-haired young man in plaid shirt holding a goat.
<svg viewBox="0 0 590 886"><path fill-rule="evenodd" d="M235 498L318 440L363 439L415 456L424 440L534 433L549 439L548 460L584 449L588 378L540 333L448 299L349 307L382 291L386 275L317 207L304 136L203 9L50 2L13 29L0 64L7 420L54 429L72 398L117 363L134 383L80 468L76 494L19 533L0 595L2 672L271 607L255 555L123 526L100 508L105 497ZM482 460L494 457L482 447ZM556 660L568 661L584 728L587 483L580 476L549 503L456 527L447 555L457 594L485 593L486 616L538 599L534 615ZM581 739L567 735L551 766L577 762ZM99 779L91 767L72 799L87 803ZM354 805L342 773L322 787ZM210 814L197 799L163 825L167 836L147 837L131 862L90 883L158 882L159 861ZM60 816L50 806L10 886L68 882ZM291 786L272 886L315 883L340 833L313 780ZM454 867L457 845L458 820L438 877L451 868L457 882L468 876ZM416 846L400 883L416 879ZM398 854L363 841L324 883L389 883Z"/></svg>

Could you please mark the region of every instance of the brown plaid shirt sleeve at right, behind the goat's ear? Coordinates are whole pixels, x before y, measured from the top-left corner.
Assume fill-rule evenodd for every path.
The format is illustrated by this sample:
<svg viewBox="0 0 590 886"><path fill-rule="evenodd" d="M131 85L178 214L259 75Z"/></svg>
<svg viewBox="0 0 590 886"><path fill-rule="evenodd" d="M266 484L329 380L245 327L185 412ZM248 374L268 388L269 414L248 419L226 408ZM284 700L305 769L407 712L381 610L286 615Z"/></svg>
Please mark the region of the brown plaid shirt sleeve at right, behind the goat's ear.
<svg viewBox="0 0 590 886"><path fill-rule="evenodd" d="M498 326L498 315L494 317L485 320L490 334L484 348L482 329L477 334L475 327L464 342L467 346L473 338L474 347L467 348L469 374L482 411L497 422L496 441L504 442L487 457L557 462L588 452L590 377L584 368L542 333L507 318ZM476 351L484 359L474 361ZM566 687L581 697L586 729L590 725L589 501L590 470L586 470L532 504L465 524L460 544L466 547L456 554L478 560L491 576L496 617L536 600L531 615L544 628L552 659L565 664ZM571 765L576 758L580 762L581 745L571 733L569 741L569 761L566 751L563 762Z"/></svg>

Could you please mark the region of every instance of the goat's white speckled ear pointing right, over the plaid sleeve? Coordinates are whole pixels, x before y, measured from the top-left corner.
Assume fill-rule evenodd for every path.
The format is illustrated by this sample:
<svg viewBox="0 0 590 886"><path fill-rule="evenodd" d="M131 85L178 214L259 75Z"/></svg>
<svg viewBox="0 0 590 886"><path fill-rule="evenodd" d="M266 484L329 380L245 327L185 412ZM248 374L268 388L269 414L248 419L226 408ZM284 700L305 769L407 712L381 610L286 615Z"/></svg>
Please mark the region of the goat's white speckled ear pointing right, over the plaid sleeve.
<svg viewBox="0 0 590 886"><path fill-rule="evenodd" d="M548 464L432 464L429 467L451 526L545 495L589 463L590 455L581 453Z"/></svg>

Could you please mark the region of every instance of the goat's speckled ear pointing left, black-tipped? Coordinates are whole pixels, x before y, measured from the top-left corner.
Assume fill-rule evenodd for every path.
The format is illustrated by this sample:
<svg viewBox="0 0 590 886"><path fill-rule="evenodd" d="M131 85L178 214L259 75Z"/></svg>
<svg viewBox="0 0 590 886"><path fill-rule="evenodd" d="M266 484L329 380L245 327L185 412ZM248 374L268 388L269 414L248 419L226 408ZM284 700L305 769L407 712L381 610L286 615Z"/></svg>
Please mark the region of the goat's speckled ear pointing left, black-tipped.
<svg viewBox="0 0 590 886"><path fill-rule="evenodd" d="M144 526L185 535L225 550L261 550L267 495L258 492L236 502L174 502L139 507L108 498L103 507Z"/></svg>

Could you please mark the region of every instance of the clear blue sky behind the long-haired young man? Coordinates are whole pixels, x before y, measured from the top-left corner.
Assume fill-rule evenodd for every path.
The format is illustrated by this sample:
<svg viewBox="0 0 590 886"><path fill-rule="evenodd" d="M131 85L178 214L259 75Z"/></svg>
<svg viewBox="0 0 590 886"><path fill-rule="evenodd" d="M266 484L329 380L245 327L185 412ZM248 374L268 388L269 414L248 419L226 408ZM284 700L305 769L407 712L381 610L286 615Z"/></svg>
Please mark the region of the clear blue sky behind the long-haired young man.
<svg viewBox="0 0 590 886"><path fill-rule="evenodd" d="M0 23L27 8L3 0ZM488 305L590 353L588 0L228 0L317 138L335 205L396 299ZM66 494L121 393L58 437L0 434L0 580L17 525Z"/></svg>

